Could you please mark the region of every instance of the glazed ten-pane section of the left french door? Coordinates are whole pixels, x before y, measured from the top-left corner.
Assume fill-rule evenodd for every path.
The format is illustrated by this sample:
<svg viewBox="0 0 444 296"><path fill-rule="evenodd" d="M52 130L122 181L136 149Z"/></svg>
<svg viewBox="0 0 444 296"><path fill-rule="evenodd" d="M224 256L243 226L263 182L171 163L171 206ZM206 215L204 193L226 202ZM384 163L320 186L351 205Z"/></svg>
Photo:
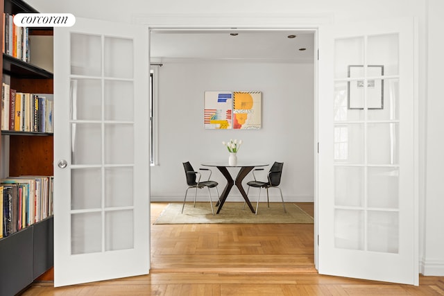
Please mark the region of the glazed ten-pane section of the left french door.
<svg viewBox="0 0 444 296"><path fill-rule="evenodd" d="M71 254L134 247L133 46L71 34Z"/></svg>

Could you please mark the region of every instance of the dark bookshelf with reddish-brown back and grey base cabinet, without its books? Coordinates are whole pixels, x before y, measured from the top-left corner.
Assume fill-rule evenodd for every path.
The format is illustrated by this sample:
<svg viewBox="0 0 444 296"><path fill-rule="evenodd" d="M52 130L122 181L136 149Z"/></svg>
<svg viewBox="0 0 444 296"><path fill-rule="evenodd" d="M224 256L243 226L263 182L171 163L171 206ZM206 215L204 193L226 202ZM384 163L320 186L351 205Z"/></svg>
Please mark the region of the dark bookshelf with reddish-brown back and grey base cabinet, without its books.
<svg viewBox="0 0 444 296"><path fill-rule="evenodd" d="M1 12L37 12L22 0L0 0ZM3 15L1 13L1 15ZM1 30L1 39L5 32ZM29 29L30 36L52 35L52 28ZM31 60L3 53L2 82L17 92L53 94L53 73ZM37 129L38 130L38 129ZM2 128L0 177L53 175L52 131ZM3 230L3 229L1 229ZM53 216L0 238L0 295L15 295L53 266Z"/></svg>

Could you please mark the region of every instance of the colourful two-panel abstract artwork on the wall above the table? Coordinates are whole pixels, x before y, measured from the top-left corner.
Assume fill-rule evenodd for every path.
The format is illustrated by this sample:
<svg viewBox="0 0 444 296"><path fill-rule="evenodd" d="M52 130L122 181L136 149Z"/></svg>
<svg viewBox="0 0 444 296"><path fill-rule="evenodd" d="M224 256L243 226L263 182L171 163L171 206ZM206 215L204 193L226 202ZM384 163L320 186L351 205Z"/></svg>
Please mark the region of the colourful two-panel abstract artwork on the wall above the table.
<svg viewBox="0 0 444 296"><path fill-rule="evenodd" d="M210 130L262 128L262 92L205 92L203 122Z"/></svg>

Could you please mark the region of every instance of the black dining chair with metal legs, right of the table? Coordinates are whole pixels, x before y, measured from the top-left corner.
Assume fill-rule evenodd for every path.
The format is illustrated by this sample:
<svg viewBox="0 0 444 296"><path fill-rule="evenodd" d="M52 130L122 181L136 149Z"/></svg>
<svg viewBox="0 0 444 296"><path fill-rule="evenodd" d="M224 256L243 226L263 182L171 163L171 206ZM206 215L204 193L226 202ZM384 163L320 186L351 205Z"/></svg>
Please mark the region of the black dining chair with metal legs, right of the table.
<svg viewBox="0 0 444 296"><path fill-rule="evenodd" d="M268 172L268 175L267 175L268 181L267 182L257 181L256 176L255 176L255 171L264 171L264 168L255 168L255 170L253 170L253 178L255 180L247 182L247 185L248 185L247 195L248 195L248 192L250 191L250 186L255 187L255 188L259 188L259 195L257 196L257 204L256 204L256 215L257 215L257 207L259 207L259 198L261 197L261 189L262 188L266 189L266 202L268 204L268 207L270 207L270 200L268 199L268 188L271 188L271 187L275 187L275 188L279 189L280 198L282 199L282 207L284 207L284 213L287 213L287 210L285 209L284 198L282 197L282 190L279 187L280 178L282 176L282 167L283 166L284 166L283 162L275 162L273 164L273 166L271 166L270 171ZM244 202L244 209L245 209L245 202Z"/></svg>

